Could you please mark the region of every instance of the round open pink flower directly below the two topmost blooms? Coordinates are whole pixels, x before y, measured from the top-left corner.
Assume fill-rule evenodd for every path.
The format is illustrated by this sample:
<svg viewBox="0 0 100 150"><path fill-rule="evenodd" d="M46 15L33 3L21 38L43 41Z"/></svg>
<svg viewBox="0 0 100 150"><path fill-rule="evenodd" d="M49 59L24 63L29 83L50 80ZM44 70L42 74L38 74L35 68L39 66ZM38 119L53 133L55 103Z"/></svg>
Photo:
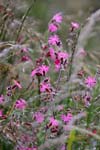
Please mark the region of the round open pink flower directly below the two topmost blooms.
<svg viewBox="0 0 100 150"><path fill-rule="evenodd" d="M58 37L58 35L51 35L50 37L49 37L49 40L48 40L48 43L49 43L49 45L59 45L59 43L60 43L60 39L59 39L59 37Z"/></svg>

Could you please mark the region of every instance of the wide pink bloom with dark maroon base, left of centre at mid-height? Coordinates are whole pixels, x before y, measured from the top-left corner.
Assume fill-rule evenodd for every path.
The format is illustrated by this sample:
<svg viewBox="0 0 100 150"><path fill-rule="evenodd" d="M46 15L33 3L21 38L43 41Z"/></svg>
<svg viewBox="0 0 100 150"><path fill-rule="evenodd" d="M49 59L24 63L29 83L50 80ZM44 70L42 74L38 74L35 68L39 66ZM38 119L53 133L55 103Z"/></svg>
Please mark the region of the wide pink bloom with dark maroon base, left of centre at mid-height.
<svg viewBox="0 0 100 150"><path fill-rule="evenodd" d="M45 74L49 71L49 66L42 65L32 71L31 76L45 76Z"/></svg>

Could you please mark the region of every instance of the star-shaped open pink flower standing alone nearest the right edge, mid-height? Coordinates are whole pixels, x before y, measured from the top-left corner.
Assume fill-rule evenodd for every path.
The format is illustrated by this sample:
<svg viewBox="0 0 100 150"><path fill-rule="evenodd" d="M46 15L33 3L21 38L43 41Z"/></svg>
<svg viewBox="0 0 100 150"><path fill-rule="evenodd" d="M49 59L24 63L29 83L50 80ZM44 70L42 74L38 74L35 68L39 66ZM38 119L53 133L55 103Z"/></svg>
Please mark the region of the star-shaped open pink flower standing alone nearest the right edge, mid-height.
<svg viewBox="0 0 100 150"><path fill-rule="evenodd" d="M96 78L95 77L91 77L91 76L88 76L86 79L85 79L85 84L88 88L93 88L95 85L96 85Z"/></svg>

